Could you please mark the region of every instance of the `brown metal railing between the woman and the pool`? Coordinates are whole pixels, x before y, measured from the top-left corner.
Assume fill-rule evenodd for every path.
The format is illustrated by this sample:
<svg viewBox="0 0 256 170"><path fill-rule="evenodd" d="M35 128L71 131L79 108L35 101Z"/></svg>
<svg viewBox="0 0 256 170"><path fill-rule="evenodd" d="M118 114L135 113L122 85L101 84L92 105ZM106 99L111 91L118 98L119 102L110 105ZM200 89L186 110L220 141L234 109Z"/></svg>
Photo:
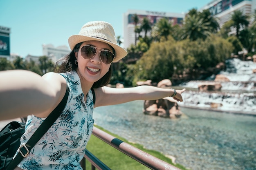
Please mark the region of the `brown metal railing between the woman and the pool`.
<svg viewBox="0 0 256 170"><path fill-rule="evenodd" d="M158 159L148 154L147 152L139 150L138 148L113 137L112 135L100 130L99 128L94 127L92 134L152 170L180 170L179 168L165 161L162 161L161 159ZM103 162L97 159L97 157L92 155L92 153L88 150L85 152L84 158L90 161L92 164L92 170L95 170L95 168L98 170L111 170ZM83 170L86 170L85 159L83 159L81 162Z"/></svg>

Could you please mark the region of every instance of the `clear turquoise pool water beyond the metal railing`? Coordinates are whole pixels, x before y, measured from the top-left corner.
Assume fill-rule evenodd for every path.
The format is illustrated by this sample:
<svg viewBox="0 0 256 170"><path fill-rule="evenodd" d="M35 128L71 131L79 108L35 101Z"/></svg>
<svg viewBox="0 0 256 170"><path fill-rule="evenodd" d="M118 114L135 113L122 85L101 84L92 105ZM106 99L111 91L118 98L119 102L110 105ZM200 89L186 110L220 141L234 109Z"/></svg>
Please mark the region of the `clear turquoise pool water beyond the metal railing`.
<svg viewBox="0 0 256 170"><path fill-rule="evenodd" d="M99 126L191 170L255 170L256 117L181 108L185 116L144 115L144 101L94 110Z"/></svg>

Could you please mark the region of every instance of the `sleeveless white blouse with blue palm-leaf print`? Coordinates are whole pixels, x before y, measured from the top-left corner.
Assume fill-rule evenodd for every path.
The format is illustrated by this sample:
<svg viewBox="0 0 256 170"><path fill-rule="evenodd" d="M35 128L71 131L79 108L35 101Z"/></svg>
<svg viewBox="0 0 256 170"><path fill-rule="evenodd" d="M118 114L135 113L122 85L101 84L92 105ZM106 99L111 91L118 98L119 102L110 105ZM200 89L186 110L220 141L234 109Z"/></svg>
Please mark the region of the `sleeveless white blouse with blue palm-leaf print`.
<svg viewBox="0 0 256 170"><path fill-rule="evenodd" d="M69 90L67 104L45 135L31 149L18 167L24 170L82 170L80 161L85 154L85 148L94 119L93 95L90 90L87 101L84 101L79 76L76 71L60 73L65 77ZM29 115L21 144L31 137L45 118Z"/></svg>

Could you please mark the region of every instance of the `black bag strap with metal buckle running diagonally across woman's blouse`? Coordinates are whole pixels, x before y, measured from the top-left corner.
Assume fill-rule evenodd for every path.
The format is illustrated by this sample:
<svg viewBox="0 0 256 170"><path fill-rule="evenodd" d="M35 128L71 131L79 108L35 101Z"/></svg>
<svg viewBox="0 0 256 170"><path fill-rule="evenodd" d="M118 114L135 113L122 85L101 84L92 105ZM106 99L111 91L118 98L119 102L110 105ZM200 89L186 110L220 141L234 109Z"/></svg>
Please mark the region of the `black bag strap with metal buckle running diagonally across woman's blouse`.
<svg viewBox="0 0 256 170"><path fill-rule="evenodd" d="M66 89L65 96L58 104L58 106L52 111L52 113L47 116L47 118L43 121L43 123L38 127L38 129L34 132L34 134L30 137L25 145L21 145L18 149L19 152L16 157L9 163L7 170L13 170L16 166L25 158L30 150L36 145L36 143L43 137L45 132L54 124L56 119L61 115L61 112L65 108L67 104L69 91L68 88Z"/></svg>

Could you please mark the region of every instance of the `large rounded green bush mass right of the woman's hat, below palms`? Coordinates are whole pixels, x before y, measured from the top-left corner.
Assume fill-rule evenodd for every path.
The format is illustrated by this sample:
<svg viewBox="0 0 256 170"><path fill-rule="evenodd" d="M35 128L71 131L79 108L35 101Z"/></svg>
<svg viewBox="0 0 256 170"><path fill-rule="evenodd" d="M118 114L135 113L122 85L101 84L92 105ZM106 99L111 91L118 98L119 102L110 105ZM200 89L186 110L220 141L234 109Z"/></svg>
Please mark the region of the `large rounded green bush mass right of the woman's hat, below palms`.
<svg viewBox="0 0 256 170"><path fill-rule="evenodd" d="M206 40L189 39L175 41L169 38L165 42L153 42L150 49L136 62L134 82L151 79L159 82L162 79L190 74L194 70L208 71L208 75L200 75L203 79L211 75L210 68L219 62L225 62L233 51L232 44L216 35L211 35Z"/></svg>

